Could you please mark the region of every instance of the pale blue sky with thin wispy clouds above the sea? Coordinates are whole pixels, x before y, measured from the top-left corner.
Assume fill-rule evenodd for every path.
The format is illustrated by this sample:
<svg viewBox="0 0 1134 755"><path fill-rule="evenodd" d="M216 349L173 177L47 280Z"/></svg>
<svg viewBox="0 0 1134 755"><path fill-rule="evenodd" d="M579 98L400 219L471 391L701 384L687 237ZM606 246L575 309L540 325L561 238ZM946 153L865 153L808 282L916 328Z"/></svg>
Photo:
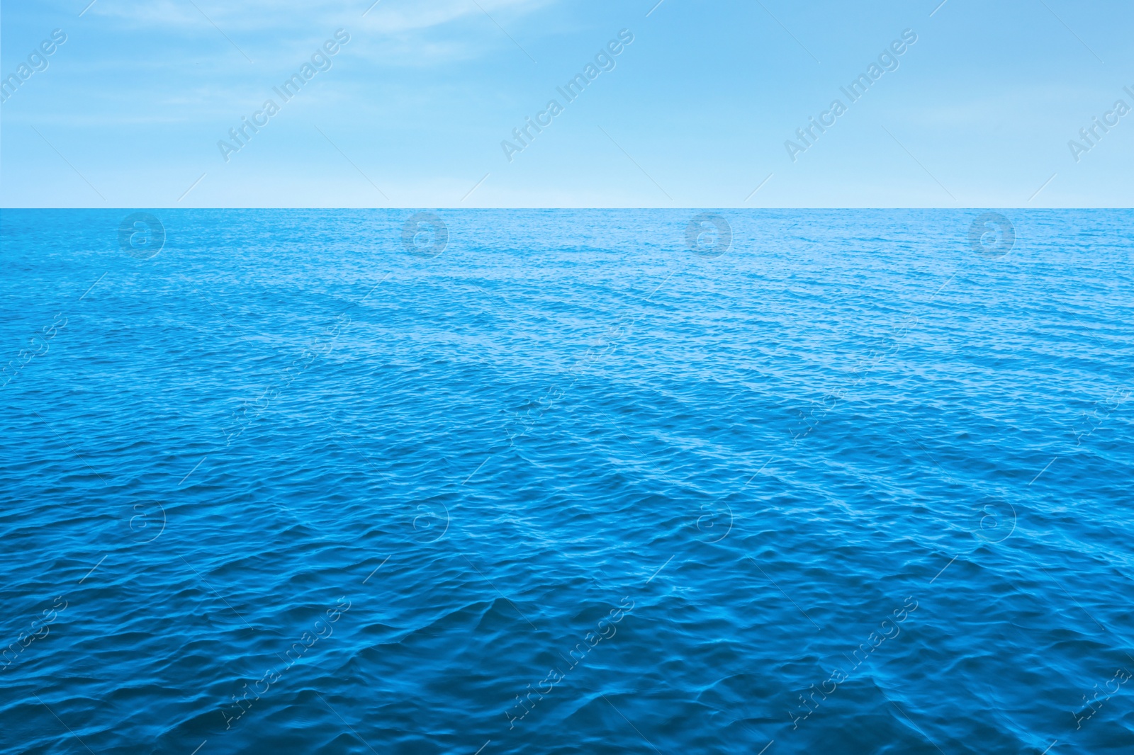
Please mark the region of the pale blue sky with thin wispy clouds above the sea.
<svg viewBox="0 0 1134 755"><path fill-rule="evenodd" d="M3 206L1134 204L1129 2L88 1L0 5Z"/></svg>

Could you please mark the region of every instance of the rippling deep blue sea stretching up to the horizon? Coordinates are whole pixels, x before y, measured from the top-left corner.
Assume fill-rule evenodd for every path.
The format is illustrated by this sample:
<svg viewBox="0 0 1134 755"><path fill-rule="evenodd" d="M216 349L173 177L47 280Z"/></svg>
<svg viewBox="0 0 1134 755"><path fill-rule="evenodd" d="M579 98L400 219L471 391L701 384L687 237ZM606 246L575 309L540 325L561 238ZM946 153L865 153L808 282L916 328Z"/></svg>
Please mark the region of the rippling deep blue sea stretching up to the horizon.
<svg viewBox="0 0 1134 755"><path fill-rule="evenodd" d="M0 750L1134 750L1134 212L127 214L0 215Z"/></svg>

